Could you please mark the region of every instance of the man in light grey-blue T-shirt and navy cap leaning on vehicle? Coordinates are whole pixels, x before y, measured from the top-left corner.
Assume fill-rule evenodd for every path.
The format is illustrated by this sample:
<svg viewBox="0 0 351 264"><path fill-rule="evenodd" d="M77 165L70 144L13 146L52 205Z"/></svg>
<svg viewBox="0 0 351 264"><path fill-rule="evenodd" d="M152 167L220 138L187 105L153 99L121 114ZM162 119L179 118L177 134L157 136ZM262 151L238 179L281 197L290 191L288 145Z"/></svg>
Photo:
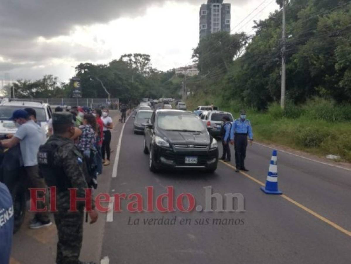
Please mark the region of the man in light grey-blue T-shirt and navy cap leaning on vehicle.
<svg viewBox="0 0 351 264"><path fill-rule="evenodd" d="M27 177L31 182L33 188L44 188L47 186L43 178L39 176L37 153L40 145L46 141L44 131L29 118L28 112L25 110L16 110L12 114L13 122L18 127L16 133L11 139L1 140L0 144L4 148L12 148L17 144L20 144L21 156L23 166L25 168ZM42 192L37 193L37 197L40 199L45 198L45 194ZM48 208L48 200L38 200L38 209ZM31 221L30 228L40 228L51 225L48 212L38 212L35 214L34 219Z"/></svg>

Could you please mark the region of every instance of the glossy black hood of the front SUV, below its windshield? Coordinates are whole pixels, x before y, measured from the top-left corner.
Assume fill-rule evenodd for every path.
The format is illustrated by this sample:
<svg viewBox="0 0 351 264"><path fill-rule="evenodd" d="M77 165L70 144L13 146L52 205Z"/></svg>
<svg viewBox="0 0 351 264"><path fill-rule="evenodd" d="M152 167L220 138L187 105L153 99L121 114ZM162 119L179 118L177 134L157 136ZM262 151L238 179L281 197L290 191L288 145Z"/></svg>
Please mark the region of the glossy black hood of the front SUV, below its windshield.
<svg viewBox="0 0 351 264"><path fill-rule="evenodd" d="M180 145L209 145L210 136L206 132L179 132L163 131L164 136L171 144Z"/></svg>

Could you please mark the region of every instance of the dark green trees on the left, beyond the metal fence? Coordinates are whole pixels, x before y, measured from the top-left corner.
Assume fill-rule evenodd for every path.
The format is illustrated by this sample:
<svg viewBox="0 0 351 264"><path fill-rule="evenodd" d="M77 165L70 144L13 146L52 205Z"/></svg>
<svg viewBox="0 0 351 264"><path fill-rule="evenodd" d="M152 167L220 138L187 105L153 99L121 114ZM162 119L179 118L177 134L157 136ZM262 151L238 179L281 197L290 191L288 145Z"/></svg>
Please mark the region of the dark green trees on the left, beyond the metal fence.
<svg viewBox="0 0 351 264"><path fill-rule="evenodd" d="M148 54L125 54L108 64L81 63L75 67L75 72L74 77L81 79L84 98L107 98L108 92L111 98L119 98L121 102L136 103L142 97L179 97L181 89L181 83L173 81L175 72L154 69ZM37 81L18 80L13 84L15 96L72 97L72 82L59 84L57 80L52 75Z"/></svg>

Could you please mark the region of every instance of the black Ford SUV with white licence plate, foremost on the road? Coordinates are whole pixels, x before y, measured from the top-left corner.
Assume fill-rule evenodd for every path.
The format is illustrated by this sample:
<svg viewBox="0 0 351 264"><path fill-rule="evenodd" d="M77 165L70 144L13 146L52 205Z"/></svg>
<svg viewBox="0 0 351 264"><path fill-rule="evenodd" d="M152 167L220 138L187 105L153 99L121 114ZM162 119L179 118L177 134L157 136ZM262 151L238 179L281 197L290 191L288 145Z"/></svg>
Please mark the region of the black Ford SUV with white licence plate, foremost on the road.
<svg viewBox="0 0 351 264"><path fill-rule="evenodd" d="M214 172L217 141L191 112L161 109L145 124L144 153L152 172L161 168L192 168Z"/></svg>

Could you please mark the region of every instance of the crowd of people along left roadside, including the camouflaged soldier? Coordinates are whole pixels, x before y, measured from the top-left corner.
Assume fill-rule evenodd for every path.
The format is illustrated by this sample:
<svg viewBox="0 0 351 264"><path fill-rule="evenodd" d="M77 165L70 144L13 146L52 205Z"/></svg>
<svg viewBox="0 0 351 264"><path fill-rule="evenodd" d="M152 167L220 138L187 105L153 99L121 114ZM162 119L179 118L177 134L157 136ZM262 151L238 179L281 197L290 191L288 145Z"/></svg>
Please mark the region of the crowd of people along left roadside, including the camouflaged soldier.
<svg viewBox="0 0 351 264"><path fill-rule="evenodd" d="M79 253L85 204L79 206L77 213L68 212L67 190L77 188L77 197L85 197L86 188L96 188L91 181L96 183L98 175L102 174L103 166L110 165L110 130L113 129L113 121L108 109L57 107L48 122L47 139L46 131L37 123L36 118L37 114L32 108L15 110L11 120L18 129L14 135L8 135L7 139L1 140L0 146L6 149L19 144L22 165L32 188L58 187L58 211L54 213L59 237L56 263L82 263L79 262ZM1 192L5 189L6 186L0 184ZM8 193L4 191L0 195L4 198L0 199L1 208L9 207L11 195L6 194ZM38 211L49 208L47 197L44 192L37 192ZM98 218L93 201L92 205L89 212L90 223L94 223ZM8 210L12 210L12 224L11 221L7 221L9 226L6 232L5 228L0 228L0 234L4 235L6 241L11 242L13 206ZM52 225L50 214L43 210L35 213L29 227L41 228L49 225ZM4 263L8 263L9 255L6 256L4 252L6 251L0 250L0 258L5 260Z"/></svg>

